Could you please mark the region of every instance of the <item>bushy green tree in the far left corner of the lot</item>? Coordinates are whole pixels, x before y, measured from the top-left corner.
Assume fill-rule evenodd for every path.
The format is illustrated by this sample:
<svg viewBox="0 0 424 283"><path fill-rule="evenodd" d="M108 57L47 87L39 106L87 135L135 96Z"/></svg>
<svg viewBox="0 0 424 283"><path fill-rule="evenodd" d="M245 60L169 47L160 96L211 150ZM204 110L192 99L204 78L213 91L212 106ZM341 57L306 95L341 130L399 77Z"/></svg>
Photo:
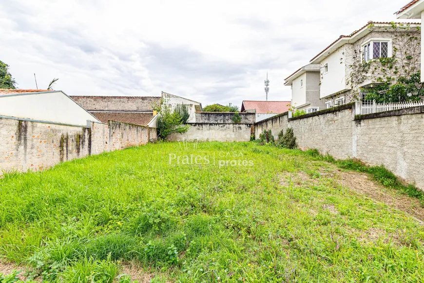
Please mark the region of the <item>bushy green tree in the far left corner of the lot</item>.
<svg viewBox="0 0 424 283"><path fill-rule="evenodd" d="M161 99L159 105L154 105L154 110L158 112L157 135L159 139L166 140L173 133L183 134L189 130L190 125L184 124L188 119L184 115L186 107L187 105L177 105L175 110L171 111L171 105L166 99Z"/></svg>

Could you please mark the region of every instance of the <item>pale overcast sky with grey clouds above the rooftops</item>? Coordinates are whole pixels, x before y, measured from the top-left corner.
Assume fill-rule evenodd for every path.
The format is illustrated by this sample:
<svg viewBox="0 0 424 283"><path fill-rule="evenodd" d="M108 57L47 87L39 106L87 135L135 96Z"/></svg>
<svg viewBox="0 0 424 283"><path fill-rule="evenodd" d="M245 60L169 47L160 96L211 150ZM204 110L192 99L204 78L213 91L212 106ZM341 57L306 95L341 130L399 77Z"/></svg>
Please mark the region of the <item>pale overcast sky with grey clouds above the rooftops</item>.
<svg viewBox="0 0 424 283"><path fill-rule="evenodd" d="M383 4L384 2L384 4ZM0 0L0 60L19 88L241 105L408 0Z"/></svg>

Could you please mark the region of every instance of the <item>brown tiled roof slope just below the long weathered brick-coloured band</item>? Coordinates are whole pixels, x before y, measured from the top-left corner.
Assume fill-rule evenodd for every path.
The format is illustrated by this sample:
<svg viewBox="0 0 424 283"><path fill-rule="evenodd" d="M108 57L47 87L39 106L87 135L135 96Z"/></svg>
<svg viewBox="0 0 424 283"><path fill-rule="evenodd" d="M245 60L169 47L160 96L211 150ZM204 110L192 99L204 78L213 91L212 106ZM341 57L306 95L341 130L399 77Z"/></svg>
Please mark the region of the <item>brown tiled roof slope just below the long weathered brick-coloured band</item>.
<svg viewBox="0 0 424 283"><path fill-rule="evenodd" d="M153 118L153 112L96 112L90 111L103 123L108 121L123 122L139 126L147 126Z"/></svg>

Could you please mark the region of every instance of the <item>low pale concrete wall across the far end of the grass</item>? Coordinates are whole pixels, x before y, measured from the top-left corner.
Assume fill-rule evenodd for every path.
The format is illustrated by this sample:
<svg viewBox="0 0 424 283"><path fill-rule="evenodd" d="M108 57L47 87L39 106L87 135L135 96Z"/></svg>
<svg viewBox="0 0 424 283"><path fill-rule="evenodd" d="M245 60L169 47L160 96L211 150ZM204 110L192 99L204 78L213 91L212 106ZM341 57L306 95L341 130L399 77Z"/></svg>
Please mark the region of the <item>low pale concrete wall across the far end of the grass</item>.
<svg viewBox="0 0 424 283"><path fill-rule="evenodd" d="M251 138L250 124L217 124L194 123L184 134L172 134L169 141L199 141L199 142L249 142Z"/></svg>

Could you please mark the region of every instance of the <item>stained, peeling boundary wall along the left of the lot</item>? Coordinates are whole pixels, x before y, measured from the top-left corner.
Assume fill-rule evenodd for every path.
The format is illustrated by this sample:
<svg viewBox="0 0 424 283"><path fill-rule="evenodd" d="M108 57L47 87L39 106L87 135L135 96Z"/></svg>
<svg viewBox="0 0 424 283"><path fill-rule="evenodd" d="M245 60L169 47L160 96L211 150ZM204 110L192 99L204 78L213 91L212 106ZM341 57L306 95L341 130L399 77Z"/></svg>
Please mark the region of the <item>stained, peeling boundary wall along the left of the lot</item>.
<svg viewBox="0 0 424 283"><path fill-rule="evenodd" d="M121 122L91 127L0 118L0 175L149 142L150 129Z"/></svg>

